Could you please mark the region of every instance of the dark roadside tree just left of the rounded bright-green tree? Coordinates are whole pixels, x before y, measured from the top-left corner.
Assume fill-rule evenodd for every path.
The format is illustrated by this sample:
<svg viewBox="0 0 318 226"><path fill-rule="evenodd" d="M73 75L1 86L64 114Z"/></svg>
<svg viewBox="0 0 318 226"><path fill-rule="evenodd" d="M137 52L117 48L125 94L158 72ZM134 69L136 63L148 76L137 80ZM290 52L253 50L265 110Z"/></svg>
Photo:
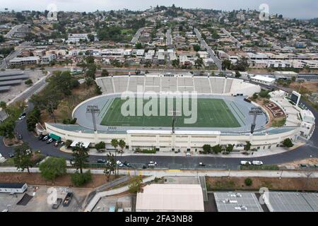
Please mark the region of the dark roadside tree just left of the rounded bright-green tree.
<svg viewBox="0 0 318 226"><path fill-rule="evenodd" d="M13 161L16 168L28 169L28 173L30 173L30 168L33 167L33 154L28 143L23 143L23 145L14 148L14 156Z"/></svg>

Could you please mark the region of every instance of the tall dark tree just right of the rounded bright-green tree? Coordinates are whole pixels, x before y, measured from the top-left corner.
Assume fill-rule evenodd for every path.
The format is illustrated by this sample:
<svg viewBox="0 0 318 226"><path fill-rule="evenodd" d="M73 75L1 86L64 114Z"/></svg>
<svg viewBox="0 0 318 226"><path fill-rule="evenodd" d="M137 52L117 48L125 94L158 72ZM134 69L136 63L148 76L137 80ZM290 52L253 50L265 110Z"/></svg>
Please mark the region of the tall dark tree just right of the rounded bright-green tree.
<svg viewBox="0 0 318 226"><path fill-rule="evenodd" d="M80 173L83 174L83 167L86 167L86 162L88 162L89 157L88 148L85 148L82 142L78 142L72 150L72 165L76 167L76 169L80 169Z"/></svg>

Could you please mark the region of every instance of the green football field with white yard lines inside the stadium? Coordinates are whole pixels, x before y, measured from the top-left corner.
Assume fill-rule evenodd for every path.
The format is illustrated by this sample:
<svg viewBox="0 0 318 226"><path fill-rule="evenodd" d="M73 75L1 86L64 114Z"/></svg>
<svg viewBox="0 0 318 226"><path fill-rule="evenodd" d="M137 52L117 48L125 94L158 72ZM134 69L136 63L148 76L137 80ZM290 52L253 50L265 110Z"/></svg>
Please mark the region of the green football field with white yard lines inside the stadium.
<svg viewBox="0 0 318 226"><path fill-rule="evenodd" d="M114 98L105 117L102 119L101 125L103 126L141 126L141 127L171 127L172 117L170 114L166 116L129 116L124 117L121 113L122 104L126 100L120 98ZM137 102L137 101L136 101ZM143 100L143 105L148 100ZM175 102L175 100L174 100ZM137 105L137 103L136 103ZM175 105L174 105L175 106ZM190 100L191 109L191 100ZM159 109L159 102L158 102ZM225 104L220 99L198 99L197 104L197 120L194 124L184 124L184 116L178 116L176 126L177 127L201 127L201 128L237 128L240 127L237 119ZM135 111L136 112L136 111ZM165 101L165 112L167 113L167 101ZM135 114L136 115L136 114ZM159 115L159 110L158 110Z"/></svg>

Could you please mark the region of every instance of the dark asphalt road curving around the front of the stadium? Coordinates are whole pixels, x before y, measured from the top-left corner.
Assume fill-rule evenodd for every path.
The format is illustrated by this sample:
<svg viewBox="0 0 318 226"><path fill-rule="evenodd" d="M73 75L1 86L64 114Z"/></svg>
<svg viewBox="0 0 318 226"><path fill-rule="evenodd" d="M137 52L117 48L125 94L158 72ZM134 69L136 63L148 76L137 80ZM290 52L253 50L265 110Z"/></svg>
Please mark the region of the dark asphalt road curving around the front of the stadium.
<svg viewBox="0 0 318 226"><path fill-rule="evenodd" d="M29 112L32 109L33 105L30 103L26 112ZM317 112L314 112L316 120L318 119ZM33 136L32 133L27 131L27 126L25 119L23 121L18 121L16 125L16 132L23 136L23 141L28 142L33 150L41 150L45 155L55 156L55 157L65 157L68 160L71 160L72 156L69 153L64 153L55 148L53 143L47 145L46 142L37 141L37 138ZM309 157L318 157L318 131L314 131L312 140L296 150L281 153L278 155L269 155L266 157L257 157L249 159L251 160L261 160L266 165L276 165L284 162L291 162L294 160L302 160ZM1 138L2 139L2 138ZM8 157L9 153L14 152L14 148L6 148L3 142L0 142L0 152L4 157ZM90 156L90 162L96 162L100 159L100 156ZM207 168L211 169L237 169L240 165L241 160L246 160L246 158L228 158L228 157L181 157L181 156L145 156L145 155L130 155L124 157L117 157L118 160L122 162L127 161L131 162L135 167L142 167L149 161L158 162L160 168L170 168L170 169L193 169L198 167L199 162L204 162Z"/></svg>

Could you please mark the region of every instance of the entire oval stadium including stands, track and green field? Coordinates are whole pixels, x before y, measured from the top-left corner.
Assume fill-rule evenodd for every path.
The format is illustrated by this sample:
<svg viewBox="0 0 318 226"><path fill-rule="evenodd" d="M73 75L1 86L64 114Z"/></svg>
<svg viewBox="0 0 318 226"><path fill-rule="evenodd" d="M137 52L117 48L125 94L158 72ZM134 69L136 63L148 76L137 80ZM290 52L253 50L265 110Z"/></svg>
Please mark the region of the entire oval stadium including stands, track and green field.
<svg viewBox="0 0 318 226"><path fill-rule="evenodd" d="M308 139L314 130L312 112L298 106L300 96L278 90L262 107L248 99L261 87L236 78L168 73L109 76L96 83L102 95L73 109L76 124L47 123L50 134L91 146L104 141L107 150L114 149L110 143L117 138L129 150L186 152L202 150L205 144L232 144L240 150L247 142L258 150L270 149L285 138ZM157 100L151 102L154 95ZM134 101L127 104L128 97ZM278 116L286 117L285 124L269 126Z"/></svg>

